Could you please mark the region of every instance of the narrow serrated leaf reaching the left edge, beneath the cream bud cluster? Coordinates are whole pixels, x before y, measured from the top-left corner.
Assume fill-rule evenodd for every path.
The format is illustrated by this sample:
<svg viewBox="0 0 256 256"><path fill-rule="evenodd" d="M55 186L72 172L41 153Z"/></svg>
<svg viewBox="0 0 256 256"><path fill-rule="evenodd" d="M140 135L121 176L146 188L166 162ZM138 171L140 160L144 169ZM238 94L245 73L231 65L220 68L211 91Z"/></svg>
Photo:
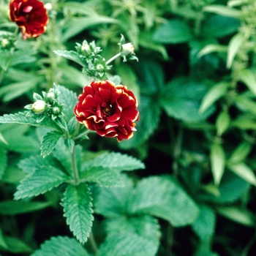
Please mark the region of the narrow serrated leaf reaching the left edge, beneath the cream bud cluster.
<svg viewBox="0 0 256 256"><path fill-rule="evenodd" d="M60 130L60 127L54 122L51 121L50 118L45 117L40 124L37 123L37 118L33 116L26 116L24 112L18 112L15 114L4 114L4 116L0 116L1 124L29 124L35 127L49 127L53 129Z"/></svg>

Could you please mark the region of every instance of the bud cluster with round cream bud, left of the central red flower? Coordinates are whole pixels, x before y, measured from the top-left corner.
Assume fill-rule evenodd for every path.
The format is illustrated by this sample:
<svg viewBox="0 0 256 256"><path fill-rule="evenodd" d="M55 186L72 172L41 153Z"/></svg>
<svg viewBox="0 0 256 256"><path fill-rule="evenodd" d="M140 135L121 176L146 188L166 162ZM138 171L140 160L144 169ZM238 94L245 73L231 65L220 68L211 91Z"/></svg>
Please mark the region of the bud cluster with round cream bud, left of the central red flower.
<svg viewBox="0 0 256 256"><path fill-rule="evenodd" d="M26 105L24 108L28 109L26 116L37 115L37 123L41 122L45 116L49 116L56 120L56 118L61 118L64 116L62 110L64 105L58 102L59 90L56 89L56 85L53 85L48 93L42 91L42 96L34 93L33 99L34 103Z"/></svg>

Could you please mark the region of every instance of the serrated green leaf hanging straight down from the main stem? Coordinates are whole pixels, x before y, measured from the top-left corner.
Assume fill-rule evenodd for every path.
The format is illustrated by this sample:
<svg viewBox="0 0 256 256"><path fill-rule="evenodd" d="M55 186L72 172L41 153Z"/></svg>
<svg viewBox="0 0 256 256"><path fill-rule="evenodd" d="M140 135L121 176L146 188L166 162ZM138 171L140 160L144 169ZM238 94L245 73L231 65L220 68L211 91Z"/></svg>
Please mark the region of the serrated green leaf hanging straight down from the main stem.
<svg viewBox="0 0 256 256"><path fill-rule="evenodd" d="M89 238L94 220L91 201L91 191L86 183L78 186L69 185L61 200L67 225L81 244Z"/></svg>

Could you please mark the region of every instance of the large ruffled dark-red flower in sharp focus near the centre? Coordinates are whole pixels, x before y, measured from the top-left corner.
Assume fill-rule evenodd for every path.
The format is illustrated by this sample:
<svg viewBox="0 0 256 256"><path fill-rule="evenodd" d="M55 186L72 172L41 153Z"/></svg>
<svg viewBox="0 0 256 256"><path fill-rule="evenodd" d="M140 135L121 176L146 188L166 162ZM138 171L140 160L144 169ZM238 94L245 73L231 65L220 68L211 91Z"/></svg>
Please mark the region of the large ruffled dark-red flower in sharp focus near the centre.
<svg viewBox="0 0 256 256"><path fill-rule="evenodd" d="M138 101L127 86L103 80L83 88L74 112L80 123L100 136L116 137L118 142L132 138L139 120Z"/></svg>

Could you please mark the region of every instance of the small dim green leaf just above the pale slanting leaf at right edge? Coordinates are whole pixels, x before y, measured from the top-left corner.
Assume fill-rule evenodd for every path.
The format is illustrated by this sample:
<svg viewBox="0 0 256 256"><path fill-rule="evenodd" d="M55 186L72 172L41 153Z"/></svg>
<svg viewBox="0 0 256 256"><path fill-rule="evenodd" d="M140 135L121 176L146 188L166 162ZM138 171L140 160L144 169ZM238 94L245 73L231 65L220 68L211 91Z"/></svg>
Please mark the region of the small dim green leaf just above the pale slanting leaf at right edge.
<svg viewBox="0 0 256 256"><path fill-rule="evenodd" d="M249 153L252 151L252 144L247 141L242 141L233 151L228 163L236 164L238 162L243 162Z"/></svg>

